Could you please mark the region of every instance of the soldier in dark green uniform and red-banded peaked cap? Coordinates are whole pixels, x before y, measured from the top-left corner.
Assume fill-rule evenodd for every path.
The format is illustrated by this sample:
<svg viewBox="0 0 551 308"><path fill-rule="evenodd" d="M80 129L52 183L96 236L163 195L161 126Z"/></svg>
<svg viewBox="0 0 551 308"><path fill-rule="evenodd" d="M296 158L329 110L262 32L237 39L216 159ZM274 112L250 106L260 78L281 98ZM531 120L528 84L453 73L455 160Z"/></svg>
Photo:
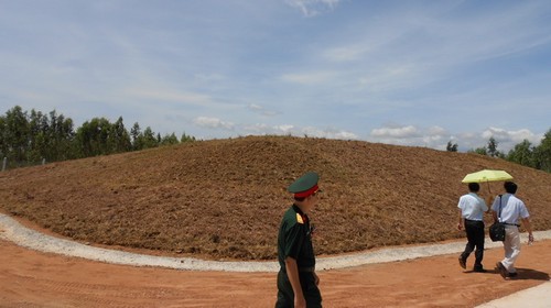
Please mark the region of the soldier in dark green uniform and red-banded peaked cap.
<svg viewBox="0 0 551 308"><path fill-rule="evenodd" d="M278 235L278 301L276 308L322 307L322 295L315 274L312 224L307 213L317 205L321 193L316 173L306 173L288 188L294 204L281 220Z"/></svg>

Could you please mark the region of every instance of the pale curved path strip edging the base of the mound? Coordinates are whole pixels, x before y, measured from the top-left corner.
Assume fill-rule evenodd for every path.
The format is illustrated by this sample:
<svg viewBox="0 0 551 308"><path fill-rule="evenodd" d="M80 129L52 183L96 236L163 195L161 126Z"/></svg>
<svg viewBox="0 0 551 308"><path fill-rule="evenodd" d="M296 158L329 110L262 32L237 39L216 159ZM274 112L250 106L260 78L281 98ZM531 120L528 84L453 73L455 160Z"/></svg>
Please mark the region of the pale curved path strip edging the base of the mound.
<svg viewBox="0 0 551 308"><path fill-rule="evenodd" d="M536 240L551 239L551 231L534 232ZM193 257L166 257L117 250L108 250L85 245L78 242L54 238L23 227L21 223L0 213L0 239L35 251L56 253L67 256L83 257L99 262L132 266L158 266L186 271L222 271L222 272L278 272L278 262L219 262ZM528 241L522 234L523 243ZM486 239L486 248L499 248L500 242ZM318 271L359 266L364 264L404 261L418 257L461 253L465 241L444 244L426 244L406 248L381 249L348 255L317 257Z"/></svg>

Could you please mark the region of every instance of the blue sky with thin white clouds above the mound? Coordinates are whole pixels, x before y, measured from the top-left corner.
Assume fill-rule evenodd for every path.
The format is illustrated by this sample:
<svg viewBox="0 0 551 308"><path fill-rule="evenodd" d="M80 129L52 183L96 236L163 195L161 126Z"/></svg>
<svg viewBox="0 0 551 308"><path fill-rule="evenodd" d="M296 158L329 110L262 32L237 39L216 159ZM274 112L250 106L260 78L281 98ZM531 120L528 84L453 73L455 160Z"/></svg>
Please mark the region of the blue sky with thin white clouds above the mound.
<svg viewBox="0 0 551 308"><path fill-rule="evenodd" d="M0 112L508 151L551 129L550 21L548 0L0 0Z"/></svg>

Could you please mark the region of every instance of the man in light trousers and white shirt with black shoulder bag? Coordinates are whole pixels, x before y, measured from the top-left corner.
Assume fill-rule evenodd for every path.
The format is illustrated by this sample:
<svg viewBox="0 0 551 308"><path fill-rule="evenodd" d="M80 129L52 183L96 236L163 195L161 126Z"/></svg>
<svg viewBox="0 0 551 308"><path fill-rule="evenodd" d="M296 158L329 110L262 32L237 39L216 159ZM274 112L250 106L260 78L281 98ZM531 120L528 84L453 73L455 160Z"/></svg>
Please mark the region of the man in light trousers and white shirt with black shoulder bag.
<svg viewBox="0 0 551 308"><path fill-rule="evenodd" d="M504 278L514 278L517 276L515 261L517 261L520 254L519 219L522 220L522 224L528 231L528 244L533 242L533 234L528 209L525 202L515 196L517 185L512 182L506 182L504 188L506 194L497 196L491 206L494 221L500 221L506 224L504 240L505 258L496 264L496 268Z"/></svg>

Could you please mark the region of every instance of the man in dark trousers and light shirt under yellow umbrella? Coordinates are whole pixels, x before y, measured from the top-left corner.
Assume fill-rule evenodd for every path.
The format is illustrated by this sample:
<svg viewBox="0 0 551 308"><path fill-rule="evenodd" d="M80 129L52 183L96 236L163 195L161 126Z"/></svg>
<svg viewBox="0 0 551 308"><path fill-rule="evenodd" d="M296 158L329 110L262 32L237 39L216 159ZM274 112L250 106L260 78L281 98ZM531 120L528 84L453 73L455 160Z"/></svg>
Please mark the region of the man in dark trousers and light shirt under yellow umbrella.
<svg viewBox="0 0 551 308"><path fill-rule="evenodd" d="M465 227L467 233L467 244L465 251L460 255L460 265L466 268L468 255L475 250L475 265L474 272L486 272L483 267L482 261L484 257L484 212L488 211L488 207L483 198L478 197L476 193L480 190L478 183L468 184L467 195L460 198L457 208L460 208L460 222L457 229L462 230Z"/></svg>

